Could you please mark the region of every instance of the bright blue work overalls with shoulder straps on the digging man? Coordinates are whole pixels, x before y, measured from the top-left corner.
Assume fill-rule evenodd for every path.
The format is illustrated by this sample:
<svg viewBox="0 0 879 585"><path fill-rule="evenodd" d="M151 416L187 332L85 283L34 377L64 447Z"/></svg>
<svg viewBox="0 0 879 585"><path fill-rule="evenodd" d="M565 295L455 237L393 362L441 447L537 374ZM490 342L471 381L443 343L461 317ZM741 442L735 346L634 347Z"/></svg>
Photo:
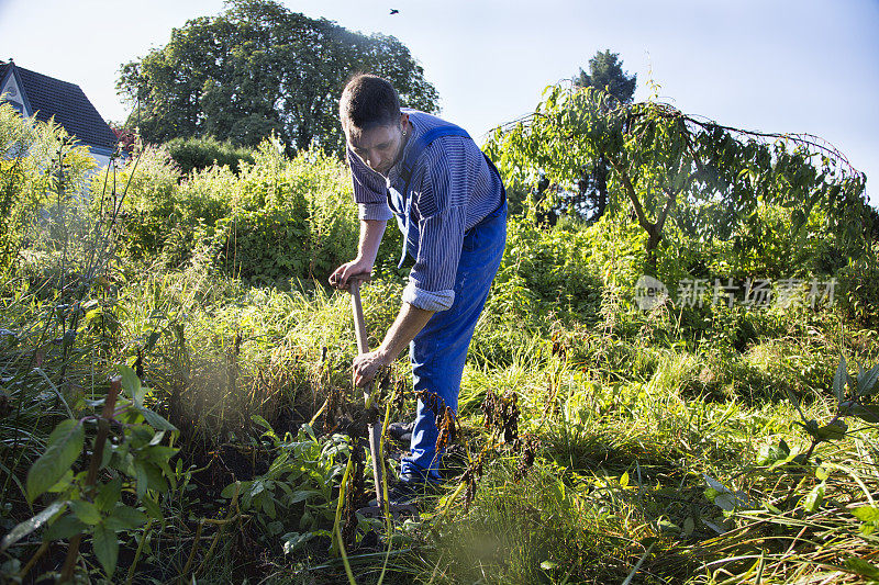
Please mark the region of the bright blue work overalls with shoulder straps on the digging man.
<svg viewBox="0 0 879 585"><path fill-rule="evenodd" d="M409 209L407 199L410 196L409 179L412 164L431 142L448 135L468 136L463 128L454 125L433 128L422 135L420 143L413 145L407 160L403 161L401 173L405 181L403 193L389 192L389 205L403 232L403 259L407 249L413 256L418 251L418 241L411 241L410 238L409 216L405 213ZM497 173L498 169L488 157L486 161L491 171ZM499 207L464 234L460 260L455 275L454 303L448 310L434 313L409 348L415 392L435 393L441 398L437 401L439 405L450 407L456 415L467 349L488 299L491 282L500 267L507 243L507 193L502 182L500 185L502 202ZM433 410L419 400L410 443L411 453L403 458L400 470L402 477L432 481L439 479L442 453L436 451L437 436Z"/></svg>

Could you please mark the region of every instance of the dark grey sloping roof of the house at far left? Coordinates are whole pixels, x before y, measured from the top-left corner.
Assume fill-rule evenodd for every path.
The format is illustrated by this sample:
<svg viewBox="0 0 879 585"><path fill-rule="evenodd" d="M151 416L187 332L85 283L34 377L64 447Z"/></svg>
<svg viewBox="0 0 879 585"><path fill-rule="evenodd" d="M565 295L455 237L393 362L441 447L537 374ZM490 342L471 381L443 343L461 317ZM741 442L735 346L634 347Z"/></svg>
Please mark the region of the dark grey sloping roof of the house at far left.
<svg viewBox="0 0 879 585"><path fill-rule="evenodd" d="M10 75L16 76L19 90L37 120L47 122L55 116L55 122L80 142L91 147L113 149L115 134L79 86L10 61L0 65L0 87Z"/></svg>

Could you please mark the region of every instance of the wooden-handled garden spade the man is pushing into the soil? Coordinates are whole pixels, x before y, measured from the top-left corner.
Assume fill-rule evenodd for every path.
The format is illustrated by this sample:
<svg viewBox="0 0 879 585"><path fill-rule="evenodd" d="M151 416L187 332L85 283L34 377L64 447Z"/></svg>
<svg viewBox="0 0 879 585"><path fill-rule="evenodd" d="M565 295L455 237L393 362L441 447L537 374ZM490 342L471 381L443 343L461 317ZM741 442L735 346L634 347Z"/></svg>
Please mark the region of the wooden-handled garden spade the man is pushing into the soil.
<svg viewBox="0 0 879 585"><path fill-rule="evenodd" d="M360 283L358 281L352 281L348 291L351 292L351 306L354 312L354 331L357 335L357 351L367 353L369 351L369 344L366 337L364 307L360 302ZM385 493L382 491L383 453L381 452L381 424L378 421L376 405L372 404L371 387L372 383L370 382L369 385L364 389L364 405L366 406L367 413L370 409L374 410L374 413L367 414L370 421L367 425L366 434L369 439L369 454L372 458L372 476L376 479L376 505L360 508L357 513L366 518L380 518L385 516L386 509ZM389 504L387 510L393 518L398 518L402 515L418 516L418 509L411 504Z"/></svg>

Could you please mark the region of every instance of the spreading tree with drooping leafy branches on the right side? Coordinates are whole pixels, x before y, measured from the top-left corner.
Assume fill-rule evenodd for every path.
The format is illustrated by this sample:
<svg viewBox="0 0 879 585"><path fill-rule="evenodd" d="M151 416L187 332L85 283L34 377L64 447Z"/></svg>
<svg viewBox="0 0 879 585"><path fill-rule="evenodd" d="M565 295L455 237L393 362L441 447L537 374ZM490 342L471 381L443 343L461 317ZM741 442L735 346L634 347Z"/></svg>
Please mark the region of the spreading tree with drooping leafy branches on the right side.
<svg viewBox="0 0 879 585"><path fill-rule="evenodd" d="M583 160L607 160L608 210L646 232L647 273L668 221L694 241L742 238L764 205L788 210L789 250L806 241L813 214L841 248L863 248L866 178L820 138L722 126L652 101L619 104L591 87L544 94L533 116L496 131L489 156L513 184L543 171L563 187L581 178Z"/></svg>

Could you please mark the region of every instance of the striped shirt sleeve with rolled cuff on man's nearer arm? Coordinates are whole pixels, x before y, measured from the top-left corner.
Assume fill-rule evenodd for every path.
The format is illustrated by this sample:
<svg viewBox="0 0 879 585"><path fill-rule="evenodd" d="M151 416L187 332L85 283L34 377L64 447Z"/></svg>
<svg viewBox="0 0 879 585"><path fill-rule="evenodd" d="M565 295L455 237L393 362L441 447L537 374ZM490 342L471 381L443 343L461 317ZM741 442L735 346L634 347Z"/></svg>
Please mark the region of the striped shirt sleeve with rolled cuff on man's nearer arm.
<svg viewBox="0 0 879 585"><path fill-rule="evenodd" d="M418 200L419 249L403 300L427 311L445 311L455 302L467 221L468 192L476 173L466 161L461 142L450 138L433 150Z"/></svg>

